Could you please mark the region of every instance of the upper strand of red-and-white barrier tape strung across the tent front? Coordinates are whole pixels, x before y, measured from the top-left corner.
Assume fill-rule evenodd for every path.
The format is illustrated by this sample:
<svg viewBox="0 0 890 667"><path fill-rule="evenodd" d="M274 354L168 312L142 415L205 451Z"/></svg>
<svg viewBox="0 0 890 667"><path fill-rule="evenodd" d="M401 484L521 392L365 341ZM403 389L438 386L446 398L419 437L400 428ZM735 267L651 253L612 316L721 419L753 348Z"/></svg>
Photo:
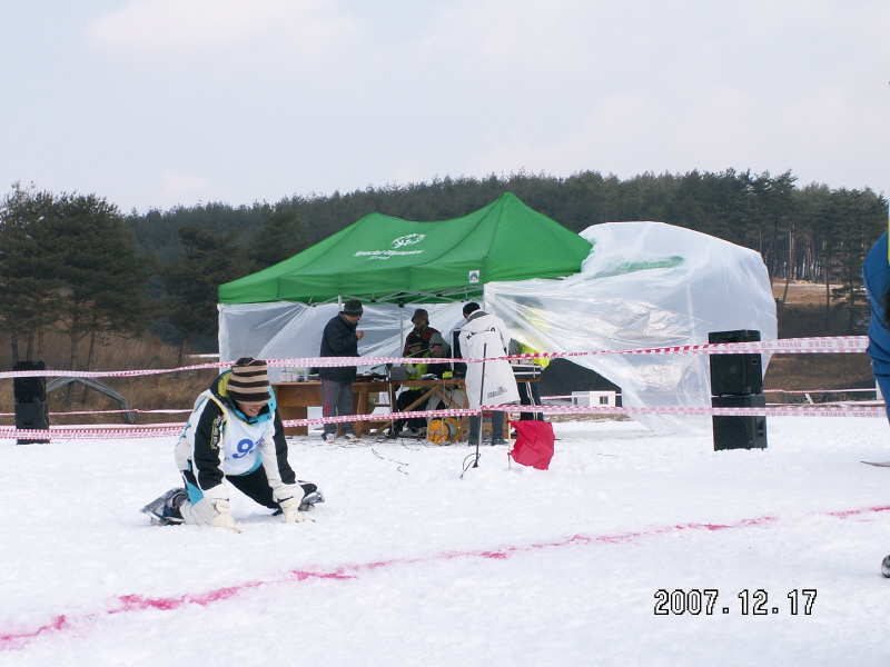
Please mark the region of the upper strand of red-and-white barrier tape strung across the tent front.
<svg viewBox="0 0 890 667"><path fill-rule="evenodd" d="M868 336L839 336L822 338L783 338L780 340L755 340L751 342L712 342L705 345L682 345L661 348L641 348L625 350L599 350L586 352L535 352L528 355L508 355L505 357L491 357L488 359L455 359L444 357L437 359L441 364L481 364L492 359L558 359L565 357L592 357L595 355L738 355L754 352L773 352L783 355L802 355L813 352L864 352L868 348ZM385 364L416 364L418 360L429 362L429 357L423 359L411 357L309 357L304 359L266 359L270 368L333 368L343 366L383 366ZM151 368L146 370L16 370L0 372L0 379L28 378L28 377L68 377L68 378L108 378L108 377L137 377L180 372L186 370L202 370L210 368L229 368L234 361L219 361L216 364L198 364L179 368Z"/></svg>

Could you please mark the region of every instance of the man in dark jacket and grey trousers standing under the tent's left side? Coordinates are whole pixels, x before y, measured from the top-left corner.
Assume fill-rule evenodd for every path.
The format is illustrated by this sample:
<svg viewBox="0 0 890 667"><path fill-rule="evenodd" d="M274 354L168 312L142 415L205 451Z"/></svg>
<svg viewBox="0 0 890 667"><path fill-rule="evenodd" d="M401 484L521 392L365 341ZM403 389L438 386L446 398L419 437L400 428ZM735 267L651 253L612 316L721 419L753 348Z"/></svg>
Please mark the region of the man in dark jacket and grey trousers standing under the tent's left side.
<svg viewBox="0 0 890 667"><path fill-rule="evenodd" d="M358 300L349 299L344 303L343 312L337 313L325 325L320 357L358 357L358 341L365 336L364 331L356 331L362 312L362 303ZM330 366L318 369L318 377L322 378L322 411L325 417L354 414L355 375L355 366ZM347 442L358 441L352 421L342 422L340 428ZM323 437L328 442L336 440L337 425L325 424Z"/></svg>

